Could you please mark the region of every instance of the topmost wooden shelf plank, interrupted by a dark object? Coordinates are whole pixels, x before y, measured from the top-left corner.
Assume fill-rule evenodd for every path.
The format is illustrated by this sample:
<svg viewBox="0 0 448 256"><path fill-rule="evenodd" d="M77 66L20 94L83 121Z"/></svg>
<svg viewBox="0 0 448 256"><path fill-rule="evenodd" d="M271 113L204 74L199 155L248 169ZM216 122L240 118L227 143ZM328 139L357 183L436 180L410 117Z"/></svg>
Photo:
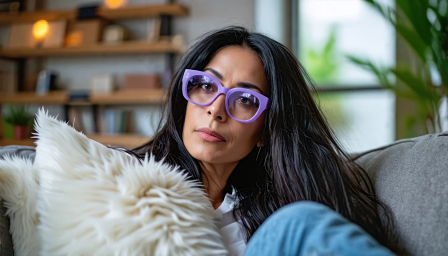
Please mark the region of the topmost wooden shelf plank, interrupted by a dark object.
<svg viewBox="0 0 448 256"><path fill-rule="evenodd" d="M188 9L178 3L171 4L153 4L153 5L134 5L122 7L119 9L108 9L99 7L97 10L98 17L109 20L122 19L141 19L154 17L161 14L171 16L186 16ZM56 19L75 19L77 10L44 10L44 11L24 11L20 13L0 13L1 23L14 22L34 22L39 19L56 20Z"/></svg>

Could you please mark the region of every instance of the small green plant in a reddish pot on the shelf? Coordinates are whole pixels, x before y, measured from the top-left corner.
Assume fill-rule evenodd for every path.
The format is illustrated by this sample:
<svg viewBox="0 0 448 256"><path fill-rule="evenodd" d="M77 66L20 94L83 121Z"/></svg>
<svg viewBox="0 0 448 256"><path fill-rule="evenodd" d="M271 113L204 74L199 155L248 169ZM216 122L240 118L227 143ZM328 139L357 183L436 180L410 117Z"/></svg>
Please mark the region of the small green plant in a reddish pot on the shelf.
<svg viewBox="0 0 448 256"><path fill-rule="evenodd" d="M9 106L3 120L13 126L14 139L29 137L29 127L32 125L33 116L24 106Z"/></svg>

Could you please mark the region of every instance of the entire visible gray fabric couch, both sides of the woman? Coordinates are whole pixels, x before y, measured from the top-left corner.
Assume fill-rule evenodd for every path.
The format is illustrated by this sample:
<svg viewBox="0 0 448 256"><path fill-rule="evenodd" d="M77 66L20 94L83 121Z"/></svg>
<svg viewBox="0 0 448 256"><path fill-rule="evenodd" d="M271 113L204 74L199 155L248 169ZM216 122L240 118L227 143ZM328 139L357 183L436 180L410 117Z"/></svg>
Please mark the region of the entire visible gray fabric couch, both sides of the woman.
<svg viewBox="0 0 448 256"><path fill-rule="evenodd" d="M4 154L34 157L34 149L0 147L0 158ZM400 254L447 255L448 131L398 140L355 158L395 215ZM0 255L12 255L4 212L0 207Z"/></svg>

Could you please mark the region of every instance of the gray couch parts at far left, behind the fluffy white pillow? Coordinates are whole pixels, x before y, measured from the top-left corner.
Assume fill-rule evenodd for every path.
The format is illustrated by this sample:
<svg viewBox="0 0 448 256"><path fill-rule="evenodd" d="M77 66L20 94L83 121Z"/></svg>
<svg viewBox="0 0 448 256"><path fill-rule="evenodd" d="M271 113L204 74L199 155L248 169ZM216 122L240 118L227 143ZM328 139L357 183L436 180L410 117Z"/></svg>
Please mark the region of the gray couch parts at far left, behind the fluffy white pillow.
<svg viewBox="0 0 448 256"><path fill-rule="evenodd" d="M32 146L0 146L0 159L7 154L34 159L35 150ZM14 255L12 237L9 233L9 218L6 216L6 208L2 203L0 203L0 255Z"/></svg>

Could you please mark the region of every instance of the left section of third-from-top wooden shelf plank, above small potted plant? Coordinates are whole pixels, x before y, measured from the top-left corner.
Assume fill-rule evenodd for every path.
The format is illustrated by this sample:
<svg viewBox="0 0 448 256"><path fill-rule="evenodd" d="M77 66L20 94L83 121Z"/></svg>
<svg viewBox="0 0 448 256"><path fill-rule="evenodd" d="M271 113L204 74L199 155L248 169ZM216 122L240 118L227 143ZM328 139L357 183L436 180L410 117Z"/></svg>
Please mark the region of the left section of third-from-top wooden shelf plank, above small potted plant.
<svg viewBox="0 0 448 256"><path fill-rule="evenodd" d="M33 91L24 91L11 94L0 94L1 103L20 104L63 104L68 101L66 91L49 91L45 95L37 95Z"/></svg>

